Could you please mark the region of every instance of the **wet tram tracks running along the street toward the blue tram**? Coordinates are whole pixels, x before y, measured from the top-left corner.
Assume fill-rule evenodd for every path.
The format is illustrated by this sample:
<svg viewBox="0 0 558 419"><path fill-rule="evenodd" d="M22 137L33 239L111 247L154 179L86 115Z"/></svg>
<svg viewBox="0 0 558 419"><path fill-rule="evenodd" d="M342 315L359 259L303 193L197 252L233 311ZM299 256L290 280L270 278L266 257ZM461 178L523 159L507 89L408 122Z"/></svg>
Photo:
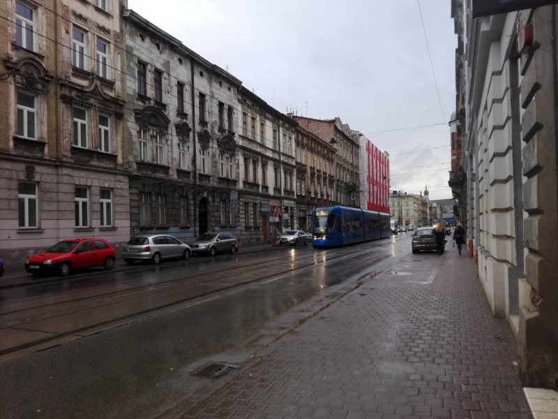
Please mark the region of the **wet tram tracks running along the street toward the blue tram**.
<svg viewBox="0 0 558 419"><path fill-rule="evenodd" d="M396 237L395 241L402 238ZM84 293L80 297L75 296L75 291L69 290L62 295L61 300L55 298L52 301L52 297L50 297L48 304L43 304L40 297L2 304L0 342L3 344L0 344L0 362L13 358L18 353L27 353L29 351L26 350L32 348L43 349L56 346L64 341L80 339L130 321L188 307L190 304L198 304L204 300L218 297L222 293L230 293L246 286L281 279L325 263L335 263L335 260L339 258L354 258L359 253L370 251L373 247L390 245L392 242L392 240L368 242L365 246L351 247L350 253L343 251L347 248L314 249L310 252L300 252L296 256L296 260L293 260L292 253L289 251L280 257L273 256L263 260L259 259L256 262L246 260L240 263L234 262L232 266L231 263L223 262L222 267L218 266L212 270L207 270L207 267L200 263L197 269L203 270L203 272L188 270L186 271L188 277L177 276L176 269L170 272L172 265L169 264L169 273L158 272L156 283L150 284L138 284L138 281L144 281L144 279L138 279L137 275L126 279L129 275L134 275L134 270L112 272L110 276L114 279L124 278L123 281L121 281L122 278L119 280L118 286L121 288L117 291L105 292L107 286L101 286L95 288L96 293L93 295L91 290L88 290L88 295ZM238 258L238 255L236 257ZM188 261L183 263L188 264ZM254 269L263 263L266 265L265 271ZM232 268L234 278L223 281L223 277ZM107 274L103 276L107 277ZM216 281L216 278L220 280ZM111 284L109 288L114 290L114 284ZM68 295L73 295L73 297L68 298ZM32 301L38 301L41 304L29 307L29 302ZM13 306L11 310L10 305ZM124 307L126 309L123 309ZM71 326L61 326L66 324Z"/></svg>

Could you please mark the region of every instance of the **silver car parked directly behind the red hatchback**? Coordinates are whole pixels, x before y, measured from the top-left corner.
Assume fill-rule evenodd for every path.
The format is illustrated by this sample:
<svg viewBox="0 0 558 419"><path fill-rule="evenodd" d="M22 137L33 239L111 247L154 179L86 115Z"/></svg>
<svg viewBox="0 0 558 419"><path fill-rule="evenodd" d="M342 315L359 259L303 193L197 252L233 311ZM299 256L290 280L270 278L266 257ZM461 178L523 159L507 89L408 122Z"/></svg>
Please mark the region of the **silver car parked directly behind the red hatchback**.
<svg viewBox="0 0 558 419"><path fill-rule="evenodd" d="M122 249L124 261L129 265L136 260L151 260L153 263L170 258L186 260L190 253L192 249L188 244L167 234L135 235Z"/></svg>

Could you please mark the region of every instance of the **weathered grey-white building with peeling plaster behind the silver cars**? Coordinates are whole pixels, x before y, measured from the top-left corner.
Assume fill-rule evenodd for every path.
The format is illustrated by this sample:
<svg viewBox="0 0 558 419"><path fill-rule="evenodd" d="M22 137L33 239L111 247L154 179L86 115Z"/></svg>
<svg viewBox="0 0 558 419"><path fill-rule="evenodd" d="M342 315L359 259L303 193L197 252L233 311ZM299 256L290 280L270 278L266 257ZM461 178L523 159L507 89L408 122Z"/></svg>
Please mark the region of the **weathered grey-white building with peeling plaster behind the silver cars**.
<svg viewBox="0 0 558 419"><path fill-rule="evenodd" d="M133 10L123 16L130 225L238 234L240 80Z"/></svg>

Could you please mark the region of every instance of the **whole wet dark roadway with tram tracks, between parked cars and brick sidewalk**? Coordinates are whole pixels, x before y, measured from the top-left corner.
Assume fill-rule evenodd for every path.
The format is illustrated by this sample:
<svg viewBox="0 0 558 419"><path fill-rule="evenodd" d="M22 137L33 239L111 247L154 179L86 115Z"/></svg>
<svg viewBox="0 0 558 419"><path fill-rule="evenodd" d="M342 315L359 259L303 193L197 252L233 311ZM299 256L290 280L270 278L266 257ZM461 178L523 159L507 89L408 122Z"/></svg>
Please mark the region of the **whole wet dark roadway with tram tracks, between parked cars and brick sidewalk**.
<svg viewBox="0 0 558 419"><path fill-rule="evenodd" d="M0 374L17 381L0 405L11 417L65 417L68 404L80 418L156 416L208 385L195 367L246 362L409 252L393 239L272 248L3 290Z"/></svg>

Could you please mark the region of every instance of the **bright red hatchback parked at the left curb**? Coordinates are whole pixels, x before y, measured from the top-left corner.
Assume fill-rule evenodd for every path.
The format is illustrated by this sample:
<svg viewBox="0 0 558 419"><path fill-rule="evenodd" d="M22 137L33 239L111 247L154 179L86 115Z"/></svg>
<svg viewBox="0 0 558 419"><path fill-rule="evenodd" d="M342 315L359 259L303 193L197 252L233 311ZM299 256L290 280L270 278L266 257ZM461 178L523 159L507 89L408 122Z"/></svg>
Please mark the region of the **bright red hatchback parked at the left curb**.
<svg viewBox="0 0 558 419"><path fill-rule="evenodd" d="M25 270L38 275L66 277L72 270L86 267L114 267L114 248L103 239L68 239L27 259Z"/></svg>

